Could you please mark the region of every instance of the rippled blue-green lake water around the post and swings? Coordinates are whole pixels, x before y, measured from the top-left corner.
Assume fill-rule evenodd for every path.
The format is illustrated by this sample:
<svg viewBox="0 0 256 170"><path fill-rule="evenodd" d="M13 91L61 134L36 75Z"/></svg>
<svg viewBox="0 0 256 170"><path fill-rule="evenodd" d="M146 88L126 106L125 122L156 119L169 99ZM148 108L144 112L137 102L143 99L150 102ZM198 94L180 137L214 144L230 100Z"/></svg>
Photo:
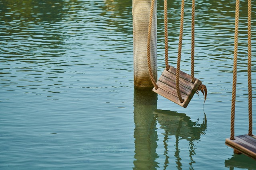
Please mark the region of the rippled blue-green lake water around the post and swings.
<svg viewBox="0 0 256 170"><path fill-rule="evenodd" d="M181 63L188 73L190 2ZM180 3L168 1L174 66ZM151 90L134 89L132 0L0 0L0 169L256 169L255 160L225 145L234 10L235 0L197 1L195 76L208 96L204 108L200 94L184 109ZM164 69L163 27L158 1L158 77ZM248 133L246 30L247 1L241 0L236 135ZM255 66L253 57L253 108Z"/></svg>

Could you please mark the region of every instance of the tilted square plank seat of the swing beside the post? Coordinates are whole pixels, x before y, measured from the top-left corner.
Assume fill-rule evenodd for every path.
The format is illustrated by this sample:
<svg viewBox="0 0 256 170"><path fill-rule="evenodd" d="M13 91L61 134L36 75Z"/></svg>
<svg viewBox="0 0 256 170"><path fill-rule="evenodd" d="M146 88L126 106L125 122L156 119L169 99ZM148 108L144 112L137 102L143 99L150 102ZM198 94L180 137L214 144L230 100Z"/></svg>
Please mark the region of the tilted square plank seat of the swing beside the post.
<svg viewBox="0 0 256 170"><path fill-rule="evenodd" d="M202 82L195 78L195 82L192 83L191 76L182 71L180 71L179 82L180 94L182 99L184 99L182 103L180 103L176 90L176 68L172 66L170 66L169 70L164 69L159 80L156 82L158 88L153 88L153 91L186 108Z"/></svg>

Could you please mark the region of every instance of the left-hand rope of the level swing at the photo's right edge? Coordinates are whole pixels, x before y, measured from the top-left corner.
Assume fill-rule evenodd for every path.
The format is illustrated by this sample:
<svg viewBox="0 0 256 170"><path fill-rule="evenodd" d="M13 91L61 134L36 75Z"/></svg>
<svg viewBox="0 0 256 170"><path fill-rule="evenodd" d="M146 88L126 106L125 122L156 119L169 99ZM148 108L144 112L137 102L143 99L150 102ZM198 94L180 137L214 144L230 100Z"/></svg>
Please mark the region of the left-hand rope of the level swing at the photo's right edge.
<svg viewBox="0 0 256 170"><path fill-rule="evenodd" d="M238 23L239 23L239 0L236 0L233 86L232 86L231 125L230 125L230 139L231 140L235 139L235 107L236 107L236 72L237 72L237 51L238 51Z"/></svg>

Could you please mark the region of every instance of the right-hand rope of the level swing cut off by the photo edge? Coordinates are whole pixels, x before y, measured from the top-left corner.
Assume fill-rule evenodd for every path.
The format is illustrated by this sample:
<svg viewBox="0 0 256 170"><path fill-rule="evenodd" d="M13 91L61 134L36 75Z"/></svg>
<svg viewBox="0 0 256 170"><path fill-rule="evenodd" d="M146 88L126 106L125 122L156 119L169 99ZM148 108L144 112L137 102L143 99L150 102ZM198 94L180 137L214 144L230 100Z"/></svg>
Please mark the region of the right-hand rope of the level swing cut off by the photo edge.
<svg viewBox="0 0 256 170"><path fill-rule="evenodd" d="M252 2L248 0L248 135L252 136Z"/></svg>

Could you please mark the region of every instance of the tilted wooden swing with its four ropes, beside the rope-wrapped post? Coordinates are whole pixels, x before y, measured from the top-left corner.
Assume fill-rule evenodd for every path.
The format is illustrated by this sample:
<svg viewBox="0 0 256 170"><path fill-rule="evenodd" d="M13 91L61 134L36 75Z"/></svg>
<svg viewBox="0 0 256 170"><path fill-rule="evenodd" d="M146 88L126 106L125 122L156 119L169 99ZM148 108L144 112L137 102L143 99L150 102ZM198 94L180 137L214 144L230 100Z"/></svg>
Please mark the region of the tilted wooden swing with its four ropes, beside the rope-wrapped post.
<svg viewBox="0 0 256 170"><path fill-rule="evenodd" d="M207 96L207 88L200 80L194 77L194 18L195 18L195 0L192 0L192 38L191 38L191 76L180 71L180 60L182 51L182 36L184 22L184 0L181 2L180 15L180 37L178 45L177 67L174 68L168 63L168 26L167 26L167 0L164 0L164 42L165 42L165 64L166 68L162 72L159 80L156 82L153 76L150 60L150 40L151 27L155 0L151 2L149 26L148 26L148 43L147 43L147 58L150 79L154 85L153 91L161 96L171 100L172 102L186 108L194 96L200 90L204 95L204 102Z"/></svg>

